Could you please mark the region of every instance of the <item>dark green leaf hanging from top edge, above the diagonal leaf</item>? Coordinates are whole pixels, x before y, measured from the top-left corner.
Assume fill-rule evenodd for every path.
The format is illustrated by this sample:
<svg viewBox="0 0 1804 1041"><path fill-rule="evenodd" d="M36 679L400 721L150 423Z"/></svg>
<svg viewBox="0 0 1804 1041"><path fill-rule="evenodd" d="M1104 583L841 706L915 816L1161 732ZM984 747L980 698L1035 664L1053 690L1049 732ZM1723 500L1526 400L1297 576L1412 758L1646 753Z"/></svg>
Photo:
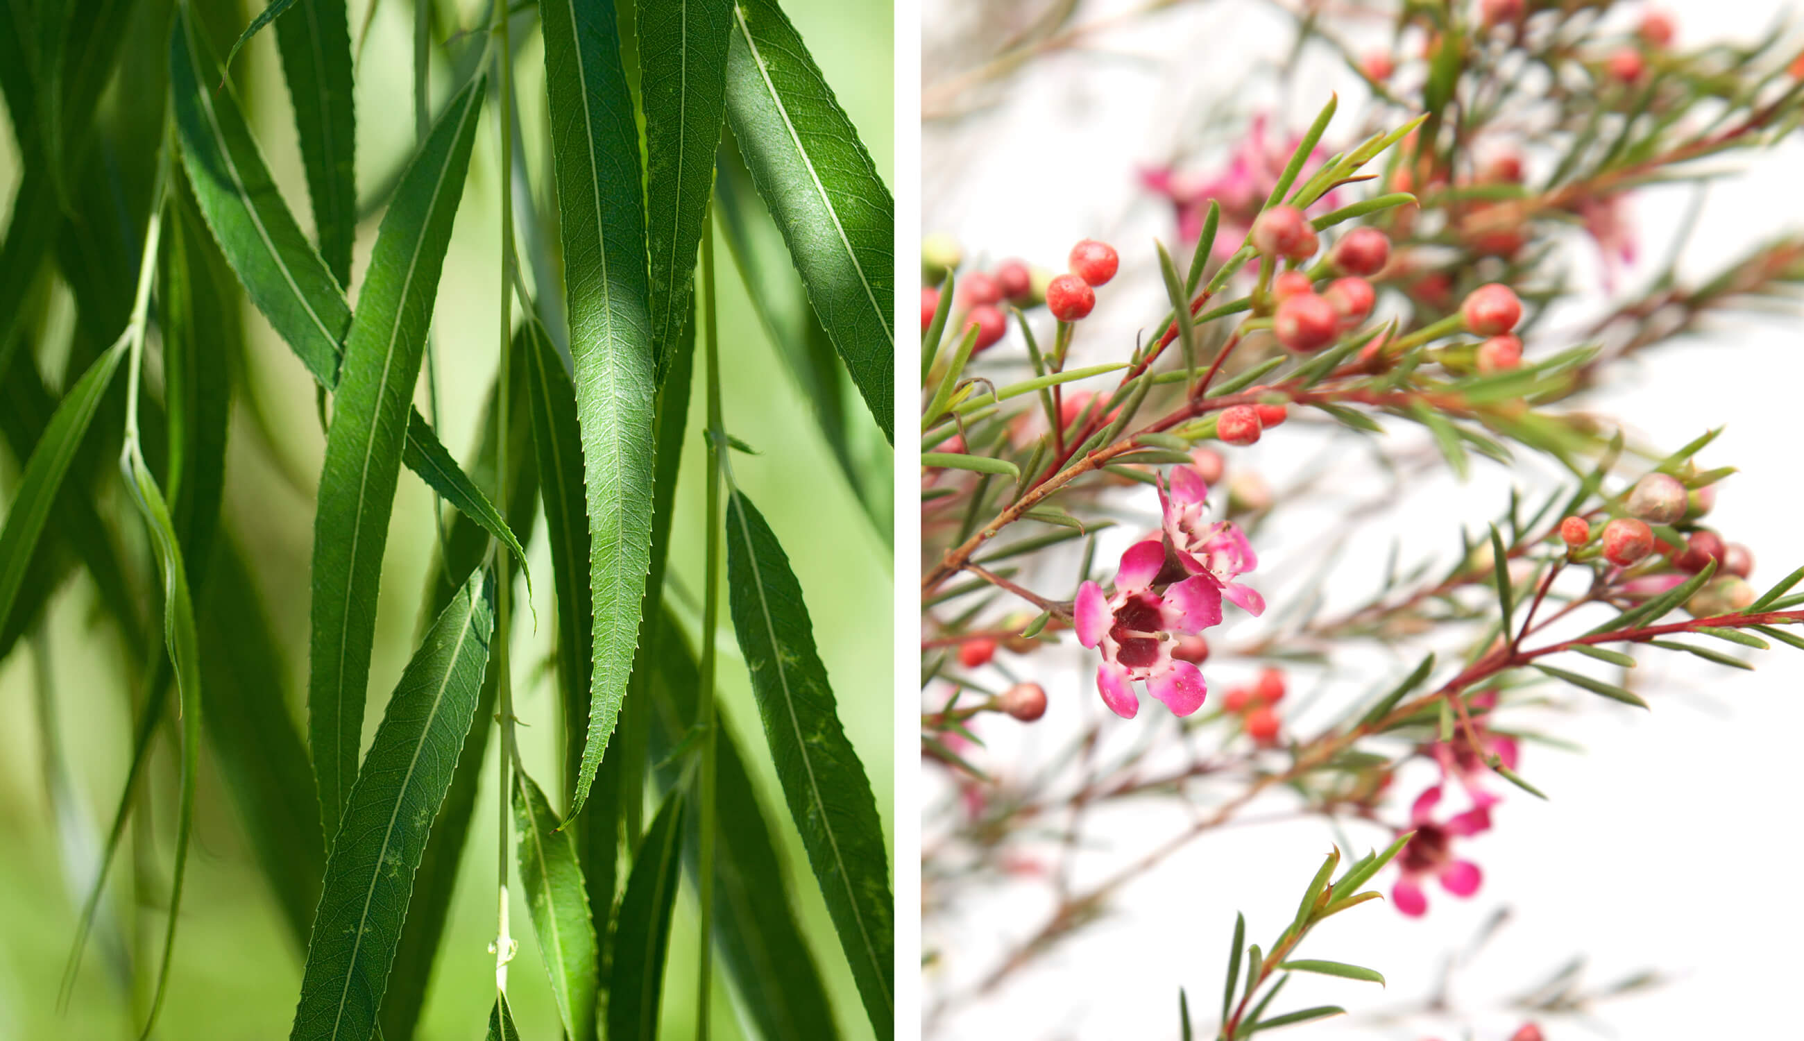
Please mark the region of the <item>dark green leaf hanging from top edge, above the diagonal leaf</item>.
<svg viewBox="0 0 1804 1041"><path fill-rule="evenodd" d="M276 0L271 9L289 2ZM357 112L345 0L307 0L276 22L276 43L294 103L319 256L339 285L350 285L350 249L357 238Z"/></svg>

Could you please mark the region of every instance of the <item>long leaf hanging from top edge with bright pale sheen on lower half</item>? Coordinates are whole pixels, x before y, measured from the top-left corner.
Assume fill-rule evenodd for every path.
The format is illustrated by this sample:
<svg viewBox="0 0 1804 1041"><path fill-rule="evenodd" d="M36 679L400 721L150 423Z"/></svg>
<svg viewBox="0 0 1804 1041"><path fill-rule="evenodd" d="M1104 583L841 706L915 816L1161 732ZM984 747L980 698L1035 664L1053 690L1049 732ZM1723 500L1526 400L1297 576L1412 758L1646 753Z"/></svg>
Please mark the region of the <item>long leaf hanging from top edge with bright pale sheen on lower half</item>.
<svg viewBox="0 0 1804 1041"><path fill-rule="evenodd" d="M545 0L545 87L588 496L594 671L581 812L621 714L651 556L653 359L639 130L612 0Z"/></svg>

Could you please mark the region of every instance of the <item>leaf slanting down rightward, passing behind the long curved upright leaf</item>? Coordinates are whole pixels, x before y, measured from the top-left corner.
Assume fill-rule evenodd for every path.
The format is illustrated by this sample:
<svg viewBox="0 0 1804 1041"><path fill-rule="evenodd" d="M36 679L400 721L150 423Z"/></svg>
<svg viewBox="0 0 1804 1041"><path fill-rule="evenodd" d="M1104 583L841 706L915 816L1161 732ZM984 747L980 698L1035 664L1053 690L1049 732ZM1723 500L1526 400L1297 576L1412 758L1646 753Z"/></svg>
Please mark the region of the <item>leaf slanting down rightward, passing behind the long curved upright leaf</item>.
<svg viewBox="0 0 1804 1041"><path fill-rule="evenodd" d="M215 90L204 70L216 72L218 65L207 56L186 5L177 5L170 40L170 85L182 164L195 200L251 303L263 312L319 386L334 390L345 352L343 339L352 325L350 305L276 189L231 83ZM446 112L462 101L467 99L453 97ZM523 556L520 541L500 523L500 514L482 491L456 467L419 410L410 411L402 462L446 502L476 518L489 534Z"/></svg>

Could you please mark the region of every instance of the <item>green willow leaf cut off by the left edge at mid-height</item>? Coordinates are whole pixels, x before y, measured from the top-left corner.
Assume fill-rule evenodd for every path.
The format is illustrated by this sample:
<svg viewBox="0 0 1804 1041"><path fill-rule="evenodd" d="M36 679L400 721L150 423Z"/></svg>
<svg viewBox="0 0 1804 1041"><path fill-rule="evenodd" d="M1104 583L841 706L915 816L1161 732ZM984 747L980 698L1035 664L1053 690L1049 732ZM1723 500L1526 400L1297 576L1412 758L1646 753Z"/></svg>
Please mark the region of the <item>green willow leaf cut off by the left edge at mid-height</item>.
<svg viewBox="0 0 1804 1041"><path fill-rule="evenodd" d="M56 406L51 426L31 453L25 474L18 482L18 493L5 514L5 527L0 529L0 628L5 628L13 604L18 599L25 570L31 567L38 538L43 534L43 521L51 516L51 503L56 500L69 464L76 458L81 438L88 433L94 411L99 408L119 359L124 357L124 341L101 354L81 375L76 386Z"/></svg>

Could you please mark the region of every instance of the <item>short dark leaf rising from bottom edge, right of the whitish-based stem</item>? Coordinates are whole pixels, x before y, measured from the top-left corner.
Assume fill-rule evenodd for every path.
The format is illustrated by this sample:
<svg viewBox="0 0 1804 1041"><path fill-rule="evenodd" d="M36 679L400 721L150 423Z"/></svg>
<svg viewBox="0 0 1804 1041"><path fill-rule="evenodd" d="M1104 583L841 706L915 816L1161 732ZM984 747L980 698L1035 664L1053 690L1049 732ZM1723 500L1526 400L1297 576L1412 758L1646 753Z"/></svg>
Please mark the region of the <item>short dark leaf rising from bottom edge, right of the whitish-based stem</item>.
<svg viewBox="0 0 1804 1041"><path fill-rule="evenodd" d="M621 898L613 940L613 981L608 987L608 1041L657 1041L664 954L669 949L676 870L682 866L682 792L664 799Z"/></svg>

